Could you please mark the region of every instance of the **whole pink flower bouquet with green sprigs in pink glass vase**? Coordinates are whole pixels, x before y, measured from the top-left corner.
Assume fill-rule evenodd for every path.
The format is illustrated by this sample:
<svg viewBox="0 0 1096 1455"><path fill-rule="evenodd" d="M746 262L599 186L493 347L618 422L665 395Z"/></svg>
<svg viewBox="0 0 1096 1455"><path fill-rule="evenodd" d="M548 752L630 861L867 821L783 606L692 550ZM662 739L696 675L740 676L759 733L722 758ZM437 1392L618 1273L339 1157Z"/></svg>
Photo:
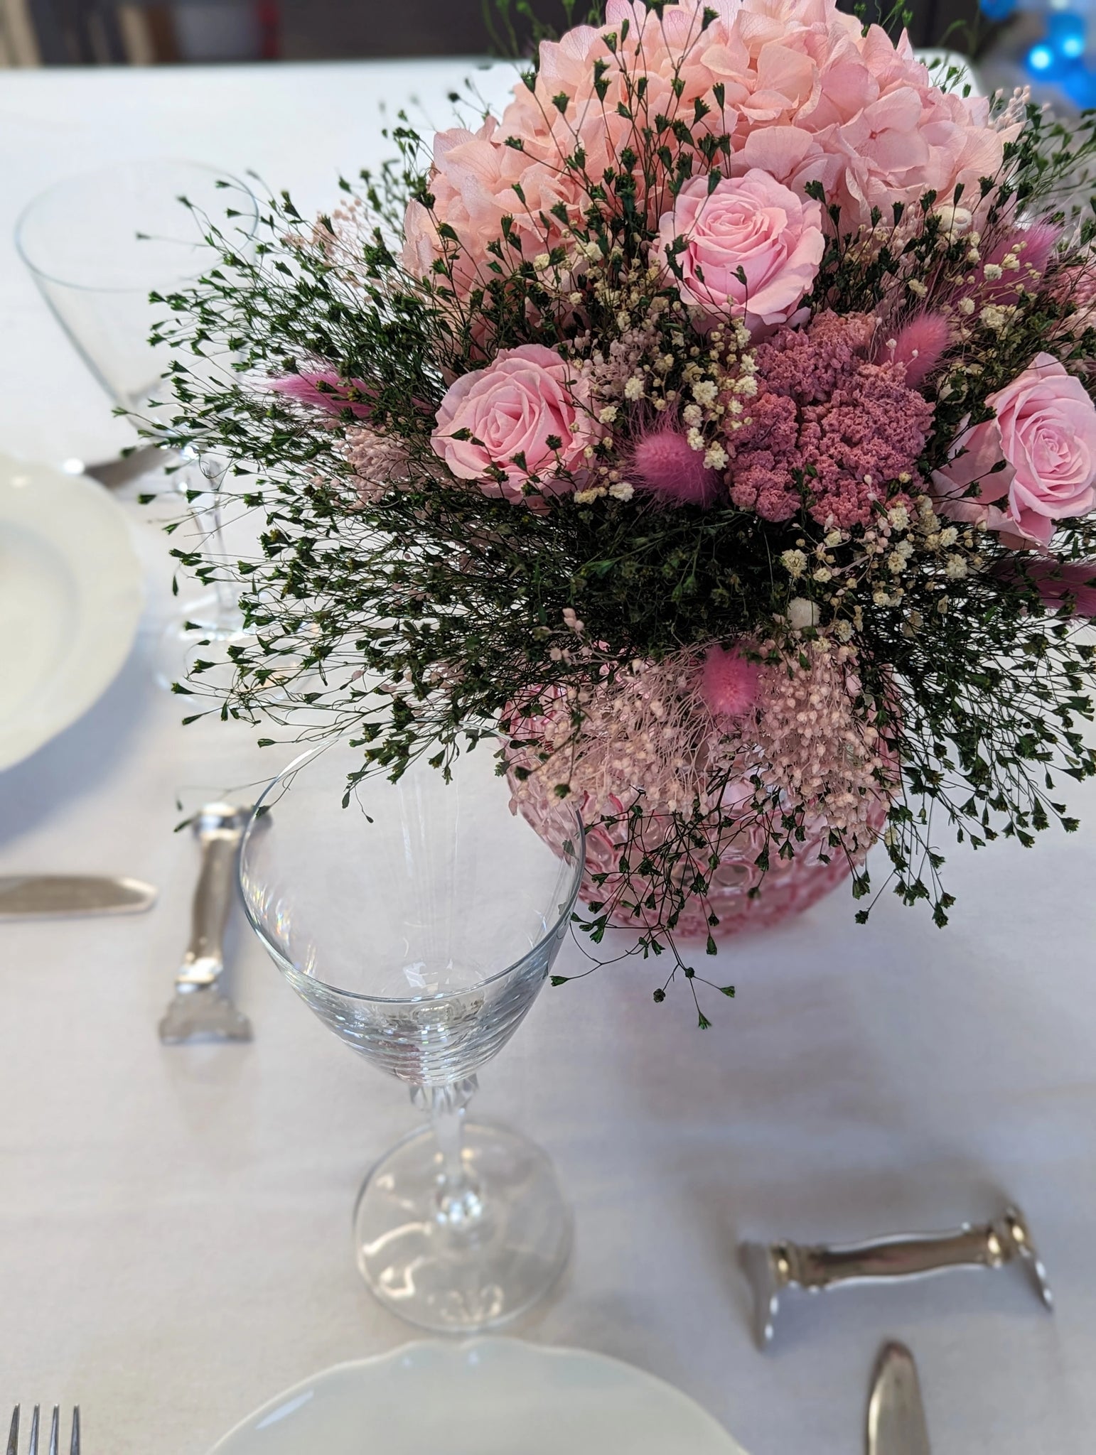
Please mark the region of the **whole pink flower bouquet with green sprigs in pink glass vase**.
<svg viewBox="0 0 1096 1455"><path fill-rule="evenodd" d="M489 739L581 809L587 928L690 981L878 840L943 924L946 831L1096 773L1095 132L830 0L608 0L499 116L220 231L162 333L240 359L176 365L265 519L223 710L393 777Z"/></svg>

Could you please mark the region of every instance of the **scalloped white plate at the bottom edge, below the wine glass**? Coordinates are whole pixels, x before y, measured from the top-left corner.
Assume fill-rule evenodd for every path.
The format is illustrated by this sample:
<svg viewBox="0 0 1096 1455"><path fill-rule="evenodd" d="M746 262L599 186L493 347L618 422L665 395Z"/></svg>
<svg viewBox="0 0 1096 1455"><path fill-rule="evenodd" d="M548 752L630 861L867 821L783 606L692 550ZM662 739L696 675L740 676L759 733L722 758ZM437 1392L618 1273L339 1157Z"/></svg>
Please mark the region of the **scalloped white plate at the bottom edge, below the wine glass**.
<svg viewBox="0 0 1096 1455"><path fill-rule="evenodd" d="M517 1339L424 1342L271 1400L211 1455L744 1455L632 1365Z"/></svg>

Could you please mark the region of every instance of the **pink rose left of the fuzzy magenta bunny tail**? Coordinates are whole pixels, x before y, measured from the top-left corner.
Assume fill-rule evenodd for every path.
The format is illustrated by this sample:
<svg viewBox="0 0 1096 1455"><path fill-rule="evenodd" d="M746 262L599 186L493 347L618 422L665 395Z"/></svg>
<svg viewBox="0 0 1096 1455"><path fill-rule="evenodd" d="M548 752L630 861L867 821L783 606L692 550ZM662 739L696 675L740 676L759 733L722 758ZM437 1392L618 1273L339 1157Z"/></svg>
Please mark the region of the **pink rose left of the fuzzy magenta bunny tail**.
<svg viewBox="0 0 1096 1455"><path fill-rule="evenodd" d="M566 359L541 343L504 349L486 368L461 374L438 409L437 454L485 495L523 501L571 489L595 438L585 388Z"/></svg>

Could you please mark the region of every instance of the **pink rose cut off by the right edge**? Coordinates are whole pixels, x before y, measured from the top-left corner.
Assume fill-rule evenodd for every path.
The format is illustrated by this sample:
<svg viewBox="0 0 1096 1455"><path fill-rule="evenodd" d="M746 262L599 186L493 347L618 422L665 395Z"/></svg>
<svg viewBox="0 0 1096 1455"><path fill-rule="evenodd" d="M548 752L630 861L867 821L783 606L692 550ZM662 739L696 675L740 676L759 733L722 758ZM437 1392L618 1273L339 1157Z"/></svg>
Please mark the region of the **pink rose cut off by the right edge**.
<svg viewBox="0 0 1096 1455"><path fill-rule="evenodd" d="M936 471L943 512L1017 537L1017 544L1045 546L1055 521L1086 515L1096 503L1096 404L1049 354L1036 355L987 403L997 418L961 435L956 457ZM974 495L966 493L971 486ZM993 503L1006 495L1007 506Z"/></svg>

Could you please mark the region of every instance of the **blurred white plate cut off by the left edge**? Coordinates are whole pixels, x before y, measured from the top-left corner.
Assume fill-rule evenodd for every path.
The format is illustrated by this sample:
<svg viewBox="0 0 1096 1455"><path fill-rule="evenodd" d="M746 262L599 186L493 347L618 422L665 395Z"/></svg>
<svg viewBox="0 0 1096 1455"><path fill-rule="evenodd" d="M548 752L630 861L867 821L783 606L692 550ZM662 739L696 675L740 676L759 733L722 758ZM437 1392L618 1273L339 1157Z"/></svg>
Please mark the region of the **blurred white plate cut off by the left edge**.
<svg viewBox="0 0 1096 1455"><path fill-rule="evenodd" d="M141 605L130 524L106 490L0 455L0 768L102 695Z"/></svg>

